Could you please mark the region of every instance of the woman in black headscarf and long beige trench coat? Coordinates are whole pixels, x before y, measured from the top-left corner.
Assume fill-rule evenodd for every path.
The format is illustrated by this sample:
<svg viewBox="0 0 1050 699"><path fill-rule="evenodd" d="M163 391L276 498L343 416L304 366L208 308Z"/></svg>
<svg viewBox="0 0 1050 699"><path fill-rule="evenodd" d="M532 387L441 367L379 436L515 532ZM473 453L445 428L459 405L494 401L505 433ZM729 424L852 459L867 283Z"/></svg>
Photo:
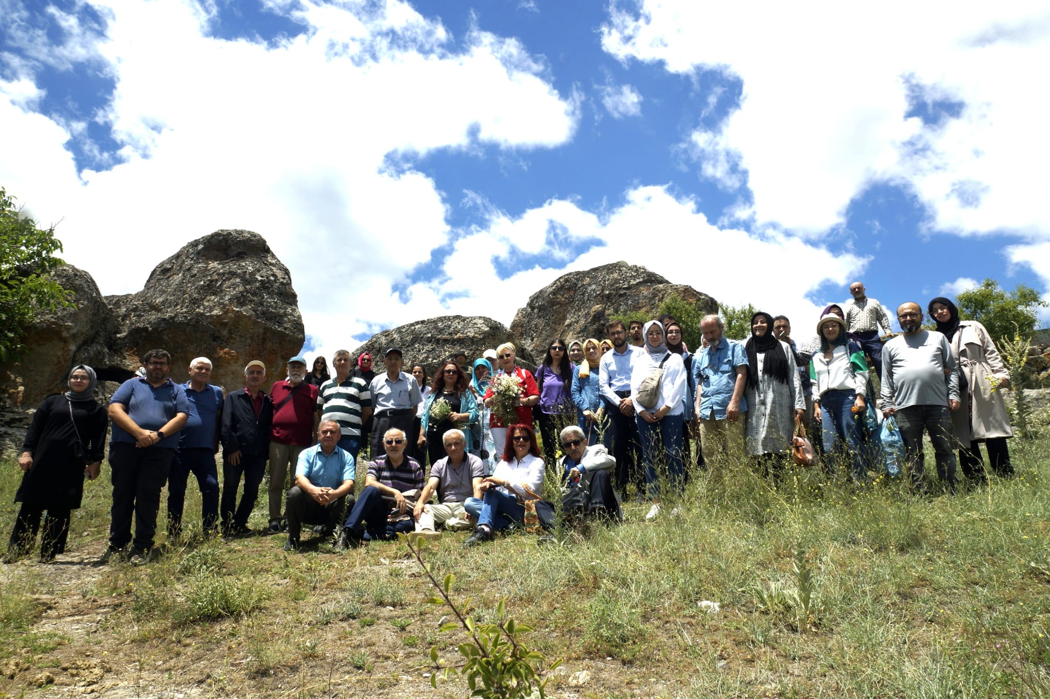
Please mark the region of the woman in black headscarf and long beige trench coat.
<svg viewBox="0 0 1050 699"><path fill-rule="evenodd" d="M960 321L956 304L944 297L930 301L927 310L937 323L938 332L948 338L959 371L960 408L951 411L951 424L963 474L986 480L979 446L984 441L992 472L1012 476L1006 440L1013 436L1013 430L1001 390L1009 388L1010 372L995 343L982 324Z"/></svg>

